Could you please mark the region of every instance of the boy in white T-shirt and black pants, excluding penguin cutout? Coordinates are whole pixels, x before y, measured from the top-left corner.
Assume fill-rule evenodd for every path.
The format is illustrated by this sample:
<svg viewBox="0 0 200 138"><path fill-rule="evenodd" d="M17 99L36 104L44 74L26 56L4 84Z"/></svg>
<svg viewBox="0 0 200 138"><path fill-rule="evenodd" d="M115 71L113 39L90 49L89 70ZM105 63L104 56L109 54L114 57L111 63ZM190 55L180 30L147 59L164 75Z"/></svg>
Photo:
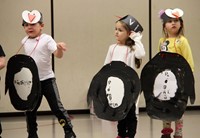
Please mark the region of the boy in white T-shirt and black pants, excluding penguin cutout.
<svg viewBox="0 0 200 138"><path fill-rule="evenodd" d="M27 34L22 40L22 46L25 49L25 53L31 56L36 62L42 95L47 99L52 112L63 127L65 138L75 138L76 135L72 130L70 117L61 103L55 75L51 66L51 54L53 53L57 58L62 58L63 51L66 50L65 43L56 44L51 36L42 33L44 23L42 14L39 11L25 10L22 13L22 18L22 26ZM36 114L41 100L37 104L36 109L26 111L28 138L38 138Z"/></svg>

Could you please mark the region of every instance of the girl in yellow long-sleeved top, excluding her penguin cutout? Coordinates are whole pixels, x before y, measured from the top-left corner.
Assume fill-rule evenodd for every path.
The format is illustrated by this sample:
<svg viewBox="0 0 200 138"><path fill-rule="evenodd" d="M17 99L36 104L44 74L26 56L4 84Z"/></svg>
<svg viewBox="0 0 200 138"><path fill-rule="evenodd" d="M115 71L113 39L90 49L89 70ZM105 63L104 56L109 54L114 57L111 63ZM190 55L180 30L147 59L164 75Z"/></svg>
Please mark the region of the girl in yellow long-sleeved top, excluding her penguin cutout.
<svg viewBox="0 0 200 138"><path fill-rule="evenodd" d="M159 40L159 50L173 52L182 55L194 71L194 62L188 40L184 37L183 29L183 11L181 9L166 9L160 12L160 18L163 22L164 37ZM175 121L174 138L182 138L183 119ZM171 122L163 121L163 133L161 138L171 138L173 129Z"/></svg>

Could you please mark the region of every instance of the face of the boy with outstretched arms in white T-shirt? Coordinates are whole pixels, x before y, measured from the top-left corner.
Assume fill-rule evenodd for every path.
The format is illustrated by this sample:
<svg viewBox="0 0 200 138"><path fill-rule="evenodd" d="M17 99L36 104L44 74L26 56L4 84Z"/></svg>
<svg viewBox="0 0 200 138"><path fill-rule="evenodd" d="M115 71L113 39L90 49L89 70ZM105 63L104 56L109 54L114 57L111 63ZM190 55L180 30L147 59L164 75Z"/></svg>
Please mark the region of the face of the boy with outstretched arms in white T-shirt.
<svg viewBox="0 0 200 138"><path fill-rule="evenodd" d="M43 27L44 27L43 23L24 24L25 32L30 38L38 37L41 34Z"/></svg>

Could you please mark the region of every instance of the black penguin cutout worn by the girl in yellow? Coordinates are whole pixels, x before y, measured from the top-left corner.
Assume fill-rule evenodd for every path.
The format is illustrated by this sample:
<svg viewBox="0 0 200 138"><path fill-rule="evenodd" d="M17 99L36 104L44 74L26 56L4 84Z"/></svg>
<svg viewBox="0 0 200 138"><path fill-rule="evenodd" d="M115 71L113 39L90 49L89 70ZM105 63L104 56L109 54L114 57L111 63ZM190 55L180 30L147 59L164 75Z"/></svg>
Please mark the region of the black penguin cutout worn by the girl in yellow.
<svg viewBox="0 0 200 138"><path fill-rule="evenodd" d="M141 86L147 114L154 119L175 121L195 101L194 76L179 54L160 52L142 69Z"/></svg>

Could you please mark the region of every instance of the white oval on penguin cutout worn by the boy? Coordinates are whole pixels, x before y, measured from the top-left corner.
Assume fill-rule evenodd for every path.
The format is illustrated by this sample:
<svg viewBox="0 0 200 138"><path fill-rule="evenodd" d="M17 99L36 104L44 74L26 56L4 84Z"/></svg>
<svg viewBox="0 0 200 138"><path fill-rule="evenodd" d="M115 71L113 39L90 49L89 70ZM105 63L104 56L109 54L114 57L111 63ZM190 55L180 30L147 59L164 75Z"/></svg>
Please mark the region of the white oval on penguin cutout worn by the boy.
<svg viewBox="0 0 200 138"><path fill-rule="evenodd" d="M28 68L22 68L14 76L14 86L22 100L27 100L32 89L32 73Z"/></svg>

